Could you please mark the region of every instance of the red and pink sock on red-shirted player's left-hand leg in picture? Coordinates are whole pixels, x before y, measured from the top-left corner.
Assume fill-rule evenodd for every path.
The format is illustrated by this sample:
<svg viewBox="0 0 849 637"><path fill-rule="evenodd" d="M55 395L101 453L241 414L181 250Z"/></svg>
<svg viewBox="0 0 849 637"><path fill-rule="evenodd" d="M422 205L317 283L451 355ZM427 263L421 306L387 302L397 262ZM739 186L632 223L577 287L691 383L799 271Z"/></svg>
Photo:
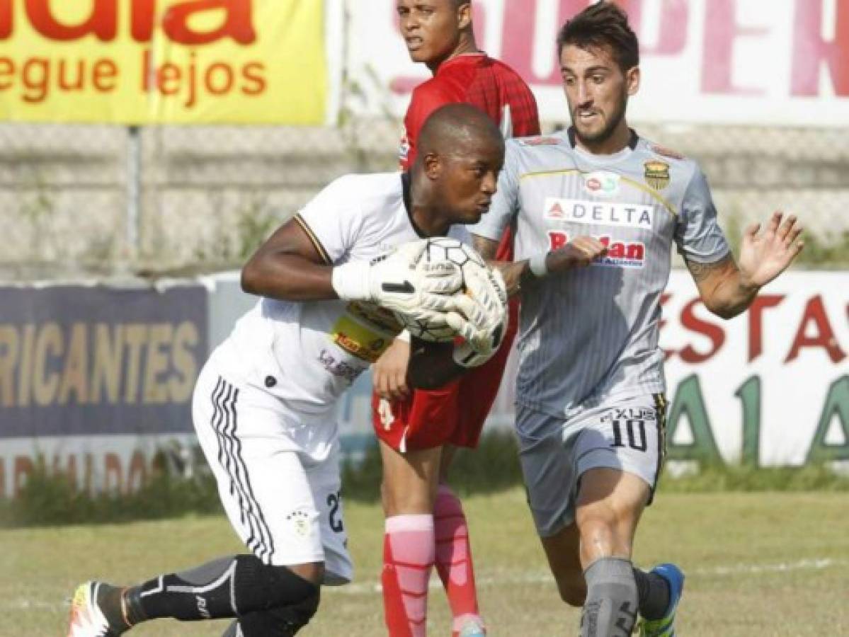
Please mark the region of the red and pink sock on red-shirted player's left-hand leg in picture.
<svg viewBox="0 0 849 637"><path fill-rule="evenodd" d="M433 516L386 518L381 581L390 637L424 637L433 556Z"/></svg>

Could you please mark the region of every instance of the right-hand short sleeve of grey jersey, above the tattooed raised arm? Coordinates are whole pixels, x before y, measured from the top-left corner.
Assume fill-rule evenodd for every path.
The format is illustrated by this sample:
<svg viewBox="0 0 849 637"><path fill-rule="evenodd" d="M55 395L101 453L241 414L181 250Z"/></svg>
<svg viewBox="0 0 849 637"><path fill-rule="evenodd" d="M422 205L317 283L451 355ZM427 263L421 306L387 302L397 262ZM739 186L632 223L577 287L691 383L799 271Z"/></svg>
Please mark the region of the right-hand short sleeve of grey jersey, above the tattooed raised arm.
<svg viewBox="0 0 849 637"><path fill-rule="evenodd" d="M728 254L728 241L717 223L711 188L697 167L684 193L675 229L678 253L696 263L715 263Z"/></svg>

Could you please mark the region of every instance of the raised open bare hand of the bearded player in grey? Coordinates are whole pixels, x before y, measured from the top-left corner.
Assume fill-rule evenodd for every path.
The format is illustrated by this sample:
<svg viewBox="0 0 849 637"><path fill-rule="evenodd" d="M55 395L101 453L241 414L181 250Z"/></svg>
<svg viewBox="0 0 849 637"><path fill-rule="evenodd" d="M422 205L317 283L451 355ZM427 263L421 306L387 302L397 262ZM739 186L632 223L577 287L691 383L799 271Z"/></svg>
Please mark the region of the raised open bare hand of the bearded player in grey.
<svg viewBox="0 0 849 637"><path fill-rule="evenodd" d="M746 228L738 262L740 283L745 288L761 288L778 277L804 247L796 216L783 219L784 213L774 212L763 232L758 232L759 223Z"/></svg>

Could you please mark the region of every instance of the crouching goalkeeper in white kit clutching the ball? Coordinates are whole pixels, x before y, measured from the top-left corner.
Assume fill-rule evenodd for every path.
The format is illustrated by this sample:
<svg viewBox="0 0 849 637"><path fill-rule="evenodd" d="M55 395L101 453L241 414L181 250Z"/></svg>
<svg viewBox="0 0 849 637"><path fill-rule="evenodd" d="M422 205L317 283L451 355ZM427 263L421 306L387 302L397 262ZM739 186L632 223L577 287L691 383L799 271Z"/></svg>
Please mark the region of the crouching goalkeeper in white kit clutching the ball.
<svg viewBox="0 0 849 637"><path fill-rule="evenodd" d="M503 164L501 132L481 111L452 104L430 116L420 145L408 174L331 183L242 271L243 288L261 300L200 372L193 419L250 552L136 586L82 584L69 637L110 637L159 617L234 617L229 637L284 637L316 612L321 584L351 580L340 394L400 332L396 314L444 320L465 338L435 344L424 365L414 351L409 383L425 388L492 355L506 314L503 281L484 268L461 277L444 263L411 267L424 237L468 237L463 224L486 213ZM461 284L497 301L478 304Z"/></svg>

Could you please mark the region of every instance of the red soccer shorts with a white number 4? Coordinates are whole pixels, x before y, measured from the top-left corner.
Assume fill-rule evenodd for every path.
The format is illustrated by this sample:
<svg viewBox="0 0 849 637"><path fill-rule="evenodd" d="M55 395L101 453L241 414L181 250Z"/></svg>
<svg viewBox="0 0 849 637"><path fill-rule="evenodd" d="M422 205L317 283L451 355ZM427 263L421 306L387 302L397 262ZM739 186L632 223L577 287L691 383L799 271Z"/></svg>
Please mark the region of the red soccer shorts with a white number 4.
<svg viewBox="0 0 849 637"><path fill-rule="evenodd" d="M519 323L519 300L510 299L509 327L498 352L480 367L444 387L416 389L406 400L381 400L372 394L372 424L377 437L401 451L443 444L476 447Z"/></svg>

